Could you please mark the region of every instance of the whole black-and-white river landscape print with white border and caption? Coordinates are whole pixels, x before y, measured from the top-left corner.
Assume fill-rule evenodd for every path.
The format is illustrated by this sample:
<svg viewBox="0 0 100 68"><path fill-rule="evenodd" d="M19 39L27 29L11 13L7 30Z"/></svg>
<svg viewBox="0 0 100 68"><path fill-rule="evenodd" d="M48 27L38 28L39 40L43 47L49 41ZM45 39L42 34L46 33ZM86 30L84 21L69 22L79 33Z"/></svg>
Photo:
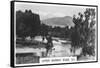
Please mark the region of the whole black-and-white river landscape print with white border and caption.
<svg viewBox="0 0 100 68"><path fill-rule="evenodd" d="M13 1L14 66L97 61L97 6Z"/></svg>

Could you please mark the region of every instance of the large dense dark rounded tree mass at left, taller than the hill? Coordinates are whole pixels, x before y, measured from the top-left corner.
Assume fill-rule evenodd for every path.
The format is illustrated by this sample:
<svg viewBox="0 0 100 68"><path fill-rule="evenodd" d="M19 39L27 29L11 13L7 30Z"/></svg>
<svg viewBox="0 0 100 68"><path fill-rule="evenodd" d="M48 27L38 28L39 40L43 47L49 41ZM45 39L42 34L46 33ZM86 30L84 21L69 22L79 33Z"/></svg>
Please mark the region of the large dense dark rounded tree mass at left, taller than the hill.
<svg viewBox="0 0 100 68"><path fill-rule="evenodd" d="M16 34L19 37L34 37L40 28L40 18L38 14L31 10L16 11Z"/></svg>

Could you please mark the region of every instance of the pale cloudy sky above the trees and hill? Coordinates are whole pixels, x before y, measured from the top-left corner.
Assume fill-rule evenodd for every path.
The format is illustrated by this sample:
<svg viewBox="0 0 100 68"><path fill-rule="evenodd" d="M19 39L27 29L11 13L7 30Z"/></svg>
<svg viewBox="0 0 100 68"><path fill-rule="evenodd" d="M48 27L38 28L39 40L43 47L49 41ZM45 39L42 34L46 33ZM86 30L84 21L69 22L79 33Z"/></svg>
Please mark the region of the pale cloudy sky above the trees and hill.
<svg viewBox="0 0 100 68"><path fill-rule="evenodd" d="M15 10L25 11L32 10L33 13L40 15L40 19L47 19L52 17L64 17L77 15L79 12L83 13L87 7L73 6L73 5L55 5L55 4L41 4L41 3L25 3L16 2Z"/></svg>

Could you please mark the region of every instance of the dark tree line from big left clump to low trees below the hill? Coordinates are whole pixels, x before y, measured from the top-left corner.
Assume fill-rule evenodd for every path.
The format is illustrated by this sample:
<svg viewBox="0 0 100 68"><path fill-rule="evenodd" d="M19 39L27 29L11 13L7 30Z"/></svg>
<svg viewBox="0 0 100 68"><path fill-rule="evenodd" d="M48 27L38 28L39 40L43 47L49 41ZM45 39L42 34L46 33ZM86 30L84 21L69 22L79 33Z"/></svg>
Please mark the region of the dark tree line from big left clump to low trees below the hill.
<svg viewBox="0 0 100 68"><path fill-rule="evenodd" d="M52 36L67 37L69 28L60 26L49 26L40 21L40 16L31 10L16 11L16 35L25 39L25 37L35 37L37 35L46 36L48 32Z"/></svg>

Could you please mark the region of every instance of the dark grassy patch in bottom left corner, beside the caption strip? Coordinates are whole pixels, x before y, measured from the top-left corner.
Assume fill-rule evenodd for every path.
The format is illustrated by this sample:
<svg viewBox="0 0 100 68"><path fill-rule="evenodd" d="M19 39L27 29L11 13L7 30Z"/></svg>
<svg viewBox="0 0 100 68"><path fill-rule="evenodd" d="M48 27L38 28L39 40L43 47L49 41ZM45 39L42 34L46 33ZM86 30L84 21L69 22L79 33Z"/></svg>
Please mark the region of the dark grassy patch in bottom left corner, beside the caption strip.
<svg viewBox="0 0 100 68"><path fill-rule="evenodd" d="M16 54L16 64L39 63L39 58L33 53Z"/></svg>

